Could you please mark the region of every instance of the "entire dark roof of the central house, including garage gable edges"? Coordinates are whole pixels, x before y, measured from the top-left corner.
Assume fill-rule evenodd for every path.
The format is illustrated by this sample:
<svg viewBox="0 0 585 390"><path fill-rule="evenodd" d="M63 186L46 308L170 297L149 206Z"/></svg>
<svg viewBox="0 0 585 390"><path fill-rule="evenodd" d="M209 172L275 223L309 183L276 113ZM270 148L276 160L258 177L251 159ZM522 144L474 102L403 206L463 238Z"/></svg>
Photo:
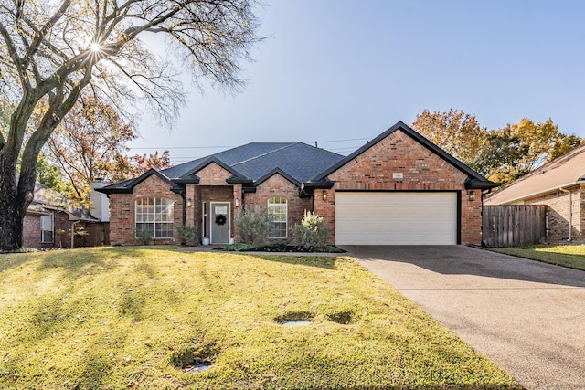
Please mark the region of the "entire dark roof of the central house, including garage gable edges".
<svg viewBox="0 0 585 390"><path fill-rule="evenodd" d="M107 185L98 191L110 194L116 192L132 192L133 185L140 183L150 174L157 174L166 182L171 184L173 191L179 191L178 184L198 183L197 172L205 168L209 163L217 163L232 176L228 178L230 184L258 185L272 174L282 174L287 180L305 188L316 188L320 185L331 187L333 184L327 179L327 175L334 172L356 155L364 153L368 148L388 137L392 132L400 130L408 134L415 141L420 142L424 147L441 156L446 162L468 175L465 186L467 188L493 188L497 186L476 173L464 163L452 157L422 137L418 132L410 129L409 126L399 121L382 132L371 142L368 142L356 152L347 157L307 145L303 142L252 142L224 152L211 154L188 163L182 163L172 168L143 174L139 178L127 180L122 183Z"/></svg>

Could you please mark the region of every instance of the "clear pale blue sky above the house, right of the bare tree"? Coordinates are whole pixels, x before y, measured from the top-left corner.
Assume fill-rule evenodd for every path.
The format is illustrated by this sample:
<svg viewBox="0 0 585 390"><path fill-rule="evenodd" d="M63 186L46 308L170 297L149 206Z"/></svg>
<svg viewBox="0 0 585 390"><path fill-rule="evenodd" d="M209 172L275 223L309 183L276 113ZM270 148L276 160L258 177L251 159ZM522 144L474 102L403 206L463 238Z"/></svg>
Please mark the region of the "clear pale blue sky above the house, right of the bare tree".
<svg viewBox="0 0 585 390"><path fill-rule="evenodd" d="M248 142L349 154L398 121L450 108L585 137L585 2L264 0L246 87L190 90L174 128L144 117L130 154L174 164Z"/></svg>

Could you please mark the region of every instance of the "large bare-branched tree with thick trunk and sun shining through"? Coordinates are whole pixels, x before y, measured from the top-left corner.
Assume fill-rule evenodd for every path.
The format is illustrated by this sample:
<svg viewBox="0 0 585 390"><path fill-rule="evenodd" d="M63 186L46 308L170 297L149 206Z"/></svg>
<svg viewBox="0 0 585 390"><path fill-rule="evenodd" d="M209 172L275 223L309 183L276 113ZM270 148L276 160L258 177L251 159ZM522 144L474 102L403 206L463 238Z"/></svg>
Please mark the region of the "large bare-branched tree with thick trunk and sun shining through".
<svg viewBox="0 0 585 390"><path fill-rule="evenodd" d="M175 65L237 90L259 41L254 0L1 0L0 93L15 109L0 133L0 249L22 246L37 156L81 92L118 110L144 102L171 120L184 102ZM170 63L142 37L166 38ZM43 100L40 120L31 116ZM30 135L25 137L27 127ZM16 163L21 156L19 180Z"/></svg>

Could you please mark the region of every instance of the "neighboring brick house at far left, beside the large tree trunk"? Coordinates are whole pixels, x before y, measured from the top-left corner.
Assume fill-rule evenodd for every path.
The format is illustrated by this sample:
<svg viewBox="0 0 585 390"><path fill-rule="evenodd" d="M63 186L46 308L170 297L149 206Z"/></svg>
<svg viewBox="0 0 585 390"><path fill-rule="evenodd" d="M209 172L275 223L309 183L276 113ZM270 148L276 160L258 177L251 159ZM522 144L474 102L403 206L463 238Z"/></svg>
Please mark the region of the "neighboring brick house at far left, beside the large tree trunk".
<svg viewBox="0 0 585 390"><path fill-rule="evenodd" d="M75 205L43 184L35 184L34 195L23 224L24 247L71 248L109 243L107 219L101 220L102 215L93 216L86 207Z"/></svg>

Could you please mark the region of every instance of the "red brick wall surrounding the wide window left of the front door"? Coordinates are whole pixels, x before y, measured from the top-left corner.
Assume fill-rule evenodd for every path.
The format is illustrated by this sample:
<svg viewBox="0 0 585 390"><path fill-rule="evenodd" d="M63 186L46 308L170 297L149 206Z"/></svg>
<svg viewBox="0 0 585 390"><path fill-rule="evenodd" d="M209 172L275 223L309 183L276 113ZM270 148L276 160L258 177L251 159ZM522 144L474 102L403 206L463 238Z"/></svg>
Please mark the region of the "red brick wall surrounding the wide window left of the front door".
<svg viewBox="0 0 585 390"><path fill-rule="evenodd" d="M110 242L115 244L138 244L134 236L135 227L135 201L141 197L165 197L175 201L173 207L174 227L183 224L183 198L181 195L170 191L170 185L156 175L151 175L133 188L132 194L110 195ZM179 238L174 231L172 239L156 239L154 243L176 243Z"/></svg>

